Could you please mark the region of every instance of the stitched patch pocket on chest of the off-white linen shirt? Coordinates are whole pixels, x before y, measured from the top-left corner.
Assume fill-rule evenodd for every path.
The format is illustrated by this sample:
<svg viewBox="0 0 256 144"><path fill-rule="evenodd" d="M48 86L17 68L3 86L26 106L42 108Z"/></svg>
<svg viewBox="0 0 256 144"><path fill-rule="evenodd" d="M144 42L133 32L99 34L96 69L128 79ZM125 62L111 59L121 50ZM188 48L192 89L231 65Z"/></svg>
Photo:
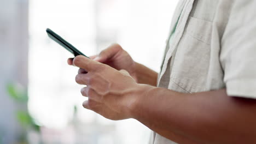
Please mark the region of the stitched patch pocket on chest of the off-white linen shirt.
<svg viewBox="0 0 256 144"><path fill-rule="evenodd" d="M178 85L189 93L202 92L211 56L212 22L189 17L173 59L168 87Z"/></svg>

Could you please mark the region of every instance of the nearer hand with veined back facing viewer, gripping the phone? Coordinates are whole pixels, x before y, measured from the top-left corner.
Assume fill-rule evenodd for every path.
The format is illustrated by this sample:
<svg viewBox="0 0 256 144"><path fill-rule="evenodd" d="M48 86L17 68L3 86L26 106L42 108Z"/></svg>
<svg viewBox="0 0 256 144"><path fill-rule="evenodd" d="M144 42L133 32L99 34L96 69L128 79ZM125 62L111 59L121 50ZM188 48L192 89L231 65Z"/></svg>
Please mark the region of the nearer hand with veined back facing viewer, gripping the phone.
<svg viewBox="0 0 256 144"><path fill-rule="evenodd" d="M86 109L112 120L132 117L130 110L137 98L138 84L126 70L116 70L84 56L75 57L73 65L86 71L75 77L77 83L87 86L81 90L88 97L83 103Z"/></svg>

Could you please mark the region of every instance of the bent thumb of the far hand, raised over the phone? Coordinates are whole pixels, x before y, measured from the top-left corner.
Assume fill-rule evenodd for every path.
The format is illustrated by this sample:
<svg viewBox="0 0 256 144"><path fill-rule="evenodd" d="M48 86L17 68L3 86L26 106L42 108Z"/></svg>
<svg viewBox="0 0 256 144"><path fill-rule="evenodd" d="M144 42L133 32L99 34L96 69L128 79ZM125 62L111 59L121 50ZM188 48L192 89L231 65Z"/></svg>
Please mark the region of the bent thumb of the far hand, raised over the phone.
<svg viewBox="0 0 256 144"><path fill-rule="evenodd" d="M107 49L101 51L101 53L94 60L97 62L105 62L108 59L112 58L119 51L123 50L119 44L112 44Z"/></svg>

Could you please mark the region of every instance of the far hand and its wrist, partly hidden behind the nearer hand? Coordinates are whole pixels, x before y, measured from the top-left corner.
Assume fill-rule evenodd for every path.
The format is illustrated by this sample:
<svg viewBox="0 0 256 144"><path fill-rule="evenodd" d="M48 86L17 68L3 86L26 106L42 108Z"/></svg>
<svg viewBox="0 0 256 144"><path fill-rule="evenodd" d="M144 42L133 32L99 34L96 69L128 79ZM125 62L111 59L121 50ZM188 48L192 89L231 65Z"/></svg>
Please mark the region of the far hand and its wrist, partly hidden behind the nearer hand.
<svg viewBox="0 0 256 144"><path fill-rule="evenodd" d="M94 61L107 64L114 69L128 71L137 83L156 86L158 73L133 61L129 53L123 50L119 44L113 44L103 50L99 55L91 56L90 58L94 59ZM72 63L73 58L69 58L68 64L71 65ZM86 73L86 71L80 68L78 73L82 74Z"/></svg>

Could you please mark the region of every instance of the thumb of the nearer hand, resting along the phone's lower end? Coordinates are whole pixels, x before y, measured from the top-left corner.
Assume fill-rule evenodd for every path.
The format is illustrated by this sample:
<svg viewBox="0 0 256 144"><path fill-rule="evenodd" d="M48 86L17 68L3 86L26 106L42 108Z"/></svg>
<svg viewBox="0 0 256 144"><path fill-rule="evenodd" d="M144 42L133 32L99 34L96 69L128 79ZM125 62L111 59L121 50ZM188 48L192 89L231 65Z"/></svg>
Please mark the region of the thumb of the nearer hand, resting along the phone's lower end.
<svg viewBox="0 0 256 144"><path fill-rule="evenodd" d="M87 58L85 56L77 56L73 59L73 65L76 67L82 68L86 71L91 71L91 70L98 70L105 65L99 62L96 62L90 58Z"/></svg>

